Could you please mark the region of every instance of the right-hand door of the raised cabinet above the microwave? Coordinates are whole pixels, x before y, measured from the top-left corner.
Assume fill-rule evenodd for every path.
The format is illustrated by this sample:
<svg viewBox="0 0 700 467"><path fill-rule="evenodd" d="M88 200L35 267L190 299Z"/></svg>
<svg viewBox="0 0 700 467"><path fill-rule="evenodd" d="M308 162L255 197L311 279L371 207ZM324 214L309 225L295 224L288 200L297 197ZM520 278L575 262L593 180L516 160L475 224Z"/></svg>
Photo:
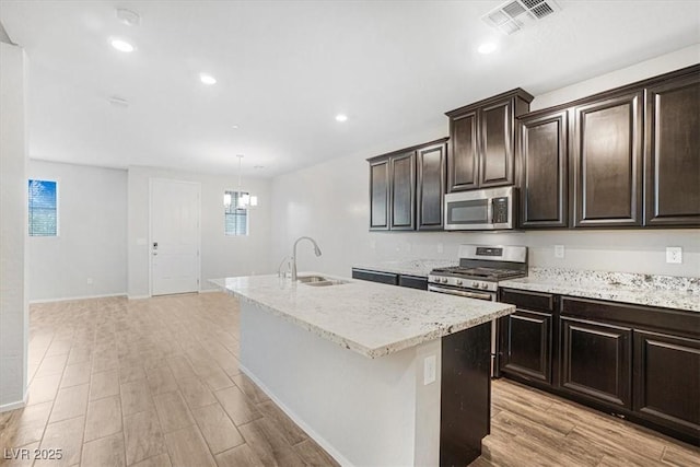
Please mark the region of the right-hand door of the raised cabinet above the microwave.
<svg viewBox="0 0 700 467"><path fill-rule="evenodd" d="M479 113L481 167L479 186L513 185L512 100L483 107Z"/></svg>

